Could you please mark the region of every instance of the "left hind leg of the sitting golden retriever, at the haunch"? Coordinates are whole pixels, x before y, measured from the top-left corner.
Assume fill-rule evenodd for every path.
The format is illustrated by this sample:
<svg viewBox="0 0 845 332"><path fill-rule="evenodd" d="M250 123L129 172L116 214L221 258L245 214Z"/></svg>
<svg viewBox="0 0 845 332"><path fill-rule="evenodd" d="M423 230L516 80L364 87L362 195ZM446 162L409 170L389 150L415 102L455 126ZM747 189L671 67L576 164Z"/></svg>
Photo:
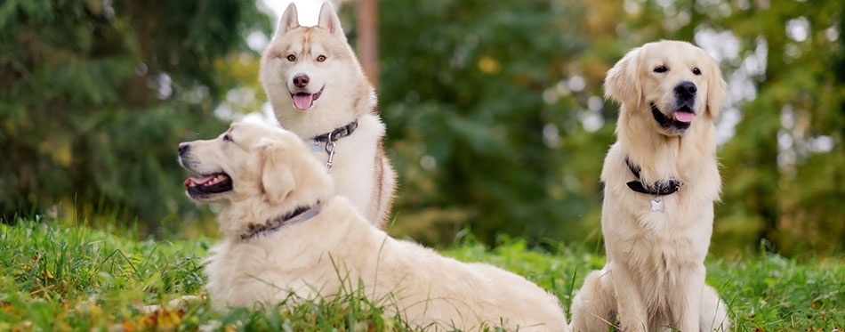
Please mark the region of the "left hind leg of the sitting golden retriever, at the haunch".
<svg viewBox="0 0 845 332"><path fill-rule="evenodd" d="M610 283L610 273L591 271L572 300L573 332L607 331L613 326L616 297Z"/></svg>

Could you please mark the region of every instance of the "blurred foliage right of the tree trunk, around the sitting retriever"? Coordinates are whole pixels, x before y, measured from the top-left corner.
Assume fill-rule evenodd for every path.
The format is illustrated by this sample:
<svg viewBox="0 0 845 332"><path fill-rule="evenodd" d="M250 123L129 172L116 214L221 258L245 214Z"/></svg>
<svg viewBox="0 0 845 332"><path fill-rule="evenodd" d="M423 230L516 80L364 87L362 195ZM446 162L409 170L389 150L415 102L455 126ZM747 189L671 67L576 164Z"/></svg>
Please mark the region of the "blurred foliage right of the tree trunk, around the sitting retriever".
<svg viewBox="0 0 845 332"><path fill-rule="evenodd" d="M718 53L731 89L722 121L738 121L719 151L714 251L761 239L787 253L841 249L845 3L810 3L382 2L398 231L437 243L468 223L487 243L499 231L598 241L618 114L602 80L628 49L680 39Z"/></svg>

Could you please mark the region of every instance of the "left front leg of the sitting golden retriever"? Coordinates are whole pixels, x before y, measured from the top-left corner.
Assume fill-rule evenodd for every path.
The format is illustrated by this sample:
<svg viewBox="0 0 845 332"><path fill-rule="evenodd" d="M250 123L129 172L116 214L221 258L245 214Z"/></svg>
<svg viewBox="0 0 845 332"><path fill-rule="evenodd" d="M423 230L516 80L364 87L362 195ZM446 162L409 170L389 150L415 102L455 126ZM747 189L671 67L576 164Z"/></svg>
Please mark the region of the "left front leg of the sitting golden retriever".
<svg viewBox="0 0 845 332"><path fill-rule="evenodd" d="M648 312L643 304L640 286L632 283L631 273L618 263L608 263L608 274L616 291L616 314L625 332L648 330Z"/></svg>

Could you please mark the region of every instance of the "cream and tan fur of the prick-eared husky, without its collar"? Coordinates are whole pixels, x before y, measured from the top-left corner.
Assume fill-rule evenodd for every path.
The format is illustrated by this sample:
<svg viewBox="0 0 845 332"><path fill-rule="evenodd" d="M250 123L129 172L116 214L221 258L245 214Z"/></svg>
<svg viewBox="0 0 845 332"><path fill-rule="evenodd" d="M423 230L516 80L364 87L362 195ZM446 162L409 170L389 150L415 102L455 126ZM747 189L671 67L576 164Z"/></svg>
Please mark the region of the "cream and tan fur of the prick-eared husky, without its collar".
<svg viewBox="0 0 845 332"><path fill-rule="evenodd" d="M307 84L296 85L297 77ZM288 5L276 36L262 54L260 80L282 127L309 143L326 165L325 144L314 137L358 120L358 128L336 142L335 190L350 199L367 220L384 227L396 186L396 174L382 150L384 124L375 109L374 88L366 80L343 35L331 4L320 9L316 27L301 27L296 6ZM304 109L294 93L307 93ZM303 105L300 105L301 107Z"/></svg>

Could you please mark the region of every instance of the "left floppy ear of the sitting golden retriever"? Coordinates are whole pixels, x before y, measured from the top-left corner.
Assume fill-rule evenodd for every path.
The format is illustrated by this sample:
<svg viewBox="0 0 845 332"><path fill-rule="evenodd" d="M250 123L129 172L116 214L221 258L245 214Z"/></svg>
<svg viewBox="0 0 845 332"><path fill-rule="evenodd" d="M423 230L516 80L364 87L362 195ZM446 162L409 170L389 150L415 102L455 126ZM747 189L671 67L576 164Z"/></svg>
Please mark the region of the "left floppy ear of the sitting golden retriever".
<svg viewBox="0 0 845 332"><path fill-rule="evenodd" d="M639 47L625 53L622 60L608 70L608 77L605 77L605 98L623 102L629 109L640 107L642 88Z"/></svg>

